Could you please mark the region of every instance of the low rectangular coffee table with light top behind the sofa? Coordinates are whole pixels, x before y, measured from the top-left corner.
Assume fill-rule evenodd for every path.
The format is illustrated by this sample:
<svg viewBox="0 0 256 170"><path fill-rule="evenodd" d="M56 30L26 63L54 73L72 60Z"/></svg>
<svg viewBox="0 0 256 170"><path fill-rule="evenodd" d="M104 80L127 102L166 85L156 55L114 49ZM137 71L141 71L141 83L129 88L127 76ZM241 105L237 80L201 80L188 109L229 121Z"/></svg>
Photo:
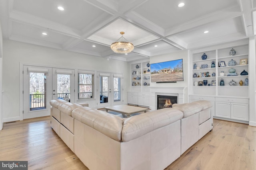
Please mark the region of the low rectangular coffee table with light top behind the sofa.
<svg viewBox="0 0 256 170"><path fill-rule="evenodd" d="M146 113L146 111L149 110L149 108L146 108L146 107L138 107L138 106L124 105L124 104L104 107L104 109L106 109L106 112L108 112L108 110L111 110L111 111L122 113L124 117L130 117L133 113L138 113L140 111L144 111Z"/></svg>

